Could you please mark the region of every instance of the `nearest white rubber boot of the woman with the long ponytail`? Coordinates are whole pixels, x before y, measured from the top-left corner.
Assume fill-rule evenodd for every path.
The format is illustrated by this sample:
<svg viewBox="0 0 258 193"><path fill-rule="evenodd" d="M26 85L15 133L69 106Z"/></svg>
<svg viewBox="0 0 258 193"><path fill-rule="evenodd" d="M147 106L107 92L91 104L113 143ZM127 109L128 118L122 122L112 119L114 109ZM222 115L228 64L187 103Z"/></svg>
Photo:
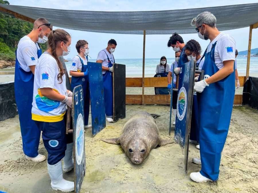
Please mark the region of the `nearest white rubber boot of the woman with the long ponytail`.
<svg viewBox="0 0 258 193"><path fill-rule="evenodd" d="M62 192L72 192L74 190L74 182L64 180L61 161L54 165L48 164L48 174L51 179L51 187L54 190Z"/></svg>

